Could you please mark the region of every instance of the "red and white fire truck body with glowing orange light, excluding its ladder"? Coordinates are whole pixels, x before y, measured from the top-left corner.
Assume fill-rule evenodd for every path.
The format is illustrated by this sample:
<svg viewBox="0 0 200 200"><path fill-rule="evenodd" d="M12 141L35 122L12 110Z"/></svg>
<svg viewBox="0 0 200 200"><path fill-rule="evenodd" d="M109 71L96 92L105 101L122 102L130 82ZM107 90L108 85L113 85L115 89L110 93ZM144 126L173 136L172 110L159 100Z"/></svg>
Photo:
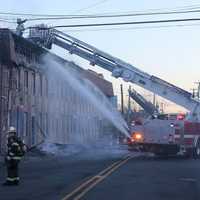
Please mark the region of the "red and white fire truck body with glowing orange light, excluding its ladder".
<svg viewBox="0 0 200 200"><path fill-rule="evenodd" d="M187 155L200 158L200 123L187 120L185 114L165 114L131 126L130 150L156 155Z"/></svg>

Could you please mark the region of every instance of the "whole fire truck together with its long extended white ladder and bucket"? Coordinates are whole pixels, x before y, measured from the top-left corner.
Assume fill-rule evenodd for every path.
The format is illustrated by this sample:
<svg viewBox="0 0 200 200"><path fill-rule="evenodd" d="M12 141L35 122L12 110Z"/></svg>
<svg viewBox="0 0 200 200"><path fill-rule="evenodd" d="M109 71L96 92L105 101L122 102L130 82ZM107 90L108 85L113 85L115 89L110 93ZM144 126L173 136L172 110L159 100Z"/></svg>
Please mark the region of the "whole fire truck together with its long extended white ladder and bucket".
<svg viewBox="0 0 200 200"><path fill-rule="evenodd" d="M139 133L137 127L135 131L131 130L133 138L130 145L156 154L192 152L195 157L200 157L200 101L194 99L190 92L51 27L31 27L29 40L47 49L57 45L89 61L92 66L108 70L115 78L122 78L186 108L189 114L184 120L169 120L166 126L166 123L162 125L161 120L155 119L158 121L148 122L146 127L143 125Z"/></svg>

